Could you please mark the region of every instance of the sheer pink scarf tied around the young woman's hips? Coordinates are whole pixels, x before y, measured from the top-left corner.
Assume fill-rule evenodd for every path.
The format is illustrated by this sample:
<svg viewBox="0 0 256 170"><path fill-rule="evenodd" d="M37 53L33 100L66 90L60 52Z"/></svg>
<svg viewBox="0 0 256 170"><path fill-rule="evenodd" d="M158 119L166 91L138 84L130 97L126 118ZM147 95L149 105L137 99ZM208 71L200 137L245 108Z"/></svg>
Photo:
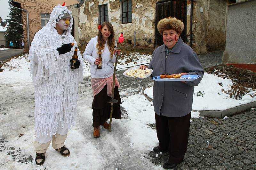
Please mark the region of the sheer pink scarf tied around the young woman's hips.
<svg viewBox="0 0 256 170"><path fill-rule="evenodd" d="M93 97L96 96L105 87L106 84L108 84L108 96L112 97L113 76L108 78L92 78L91 83ZM117 78L115 78L115 86L120 88Z"/></svg>

